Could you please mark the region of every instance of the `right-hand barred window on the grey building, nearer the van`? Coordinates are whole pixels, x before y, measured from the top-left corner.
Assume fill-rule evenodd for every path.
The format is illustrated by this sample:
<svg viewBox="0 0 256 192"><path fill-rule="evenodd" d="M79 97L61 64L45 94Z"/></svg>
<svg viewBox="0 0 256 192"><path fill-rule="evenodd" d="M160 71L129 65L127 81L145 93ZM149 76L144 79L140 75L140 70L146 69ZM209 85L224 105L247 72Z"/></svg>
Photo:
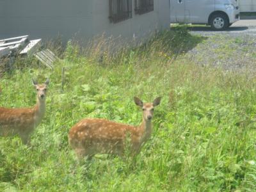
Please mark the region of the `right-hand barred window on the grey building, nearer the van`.
<svg viewBox="0 0 256 192"><path fill-rule="evenodd" d="M154 11L154 0L135 0L135 13L142 15Z"/></svg>

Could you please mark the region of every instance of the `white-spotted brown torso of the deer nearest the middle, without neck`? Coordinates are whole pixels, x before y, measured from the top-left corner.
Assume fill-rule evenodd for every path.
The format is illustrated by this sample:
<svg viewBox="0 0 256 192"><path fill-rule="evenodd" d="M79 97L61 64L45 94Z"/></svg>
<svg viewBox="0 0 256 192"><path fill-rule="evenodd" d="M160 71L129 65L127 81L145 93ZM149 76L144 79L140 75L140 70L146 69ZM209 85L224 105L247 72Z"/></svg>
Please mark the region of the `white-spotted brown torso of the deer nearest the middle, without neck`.
<svg viewBox="0 0 256 192"><path fill-rule="evenodd" d="M136 127L104 119L84 119L70 129L69 142L72 148L90 150L90 154L122 154L127 133L131 134L132 143L136 143L140 135Z"/></svg>

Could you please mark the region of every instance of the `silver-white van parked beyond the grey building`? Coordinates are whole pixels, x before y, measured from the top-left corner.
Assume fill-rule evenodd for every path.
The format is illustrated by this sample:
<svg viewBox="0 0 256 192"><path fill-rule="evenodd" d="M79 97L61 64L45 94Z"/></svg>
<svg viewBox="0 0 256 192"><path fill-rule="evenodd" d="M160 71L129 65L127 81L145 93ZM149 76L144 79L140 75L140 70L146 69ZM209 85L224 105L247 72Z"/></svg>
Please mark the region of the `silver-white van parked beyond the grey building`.
<svg viewBox="0 0 256 192"><path fill-rule="evenodd" d="M170 0L171 23L207 24L227 29L239 20L237 0Z"/></svg>

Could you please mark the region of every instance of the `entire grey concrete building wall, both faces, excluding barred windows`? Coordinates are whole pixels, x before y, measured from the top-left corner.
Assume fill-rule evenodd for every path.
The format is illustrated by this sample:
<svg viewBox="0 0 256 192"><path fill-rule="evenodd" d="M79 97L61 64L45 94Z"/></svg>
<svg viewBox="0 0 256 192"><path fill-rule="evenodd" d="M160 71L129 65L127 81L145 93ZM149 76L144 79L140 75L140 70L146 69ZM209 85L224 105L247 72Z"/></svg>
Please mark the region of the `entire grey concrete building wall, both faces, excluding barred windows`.
<svg viewBox="0 0 256 192"><path fill-rule="evenodd" d="M93 36L122 36L131 40L170 28L169 0L154 0L154 12L113 24L108 0L0 0L0 38L29 35L49 40L58 35L87 42Z"/></svg>

